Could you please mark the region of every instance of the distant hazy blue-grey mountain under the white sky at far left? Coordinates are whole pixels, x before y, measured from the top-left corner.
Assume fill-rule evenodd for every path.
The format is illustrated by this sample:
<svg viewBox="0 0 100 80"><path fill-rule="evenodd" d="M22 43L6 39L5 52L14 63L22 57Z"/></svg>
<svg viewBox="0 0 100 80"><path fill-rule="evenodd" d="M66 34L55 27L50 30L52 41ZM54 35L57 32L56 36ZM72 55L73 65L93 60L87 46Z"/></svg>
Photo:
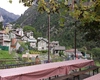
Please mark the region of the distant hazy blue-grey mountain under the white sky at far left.
<svg viewBox="0 0 100 80"><path fill-rule="evenodd" d="M14 21L16 21L20 17L19 15L15 15L13 13L10 13L10 12L6 11L3 8L0 8L0 15L3 16L4 23L14 22Z"/></svg>

